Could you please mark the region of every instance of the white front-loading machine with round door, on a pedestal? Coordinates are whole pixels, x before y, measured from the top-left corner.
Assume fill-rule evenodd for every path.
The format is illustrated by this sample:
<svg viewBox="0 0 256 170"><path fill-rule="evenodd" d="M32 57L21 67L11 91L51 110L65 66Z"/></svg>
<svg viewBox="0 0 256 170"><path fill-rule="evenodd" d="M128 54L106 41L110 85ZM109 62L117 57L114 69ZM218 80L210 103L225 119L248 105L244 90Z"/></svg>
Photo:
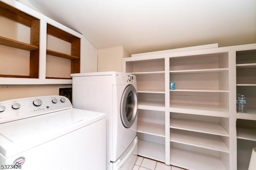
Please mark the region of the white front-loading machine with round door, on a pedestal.
<svg viewBox="0 0 256 170"><path fill-rule="evenodd" d="M119 72L71 76L74 108L106 113L107 170L131 170L138 141L136 76Z"/></svg>

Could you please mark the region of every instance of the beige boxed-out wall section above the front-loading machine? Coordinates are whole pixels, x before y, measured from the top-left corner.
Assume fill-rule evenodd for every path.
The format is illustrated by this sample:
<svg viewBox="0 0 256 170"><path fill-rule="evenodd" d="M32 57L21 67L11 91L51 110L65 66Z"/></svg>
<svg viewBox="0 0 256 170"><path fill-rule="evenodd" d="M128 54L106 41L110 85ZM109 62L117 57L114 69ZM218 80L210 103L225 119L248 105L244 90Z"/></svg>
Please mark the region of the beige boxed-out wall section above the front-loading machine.
<svg viewBox="0 0 256 170"><path fill-rule="evenodd" d="M122 58L131 55L123 46L98 50L98 72L118 71L122 72Z"/></svg>

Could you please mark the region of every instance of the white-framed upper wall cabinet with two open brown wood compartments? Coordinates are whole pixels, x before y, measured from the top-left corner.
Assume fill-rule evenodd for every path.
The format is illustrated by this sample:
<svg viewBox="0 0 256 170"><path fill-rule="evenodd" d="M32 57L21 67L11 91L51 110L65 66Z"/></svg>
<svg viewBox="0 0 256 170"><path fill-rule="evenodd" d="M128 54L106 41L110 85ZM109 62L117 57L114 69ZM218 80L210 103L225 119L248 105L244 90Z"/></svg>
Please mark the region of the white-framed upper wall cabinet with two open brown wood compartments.
<svg viewBox="0 0 256 170"><path fill-rule="evenodd" d="M2 85L72 84L71 73L97 68L97 49L82 34L15 0L0 0L0 23Z"/></svg>

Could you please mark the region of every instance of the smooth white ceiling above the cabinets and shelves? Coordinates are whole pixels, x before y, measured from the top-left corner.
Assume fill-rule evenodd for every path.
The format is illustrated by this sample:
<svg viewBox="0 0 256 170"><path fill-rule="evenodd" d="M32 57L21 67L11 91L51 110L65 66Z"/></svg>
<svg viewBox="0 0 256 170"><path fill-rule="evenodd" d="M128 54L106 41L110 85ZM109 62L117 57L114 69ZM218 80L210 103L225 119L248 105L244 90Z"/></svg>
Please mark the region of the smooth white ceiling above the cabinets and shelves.
<svg viewBox="0 0 256 170"><path fill-rule="evenodd" d="M256 0L27 0L97 49L256 43Z"/></svg>

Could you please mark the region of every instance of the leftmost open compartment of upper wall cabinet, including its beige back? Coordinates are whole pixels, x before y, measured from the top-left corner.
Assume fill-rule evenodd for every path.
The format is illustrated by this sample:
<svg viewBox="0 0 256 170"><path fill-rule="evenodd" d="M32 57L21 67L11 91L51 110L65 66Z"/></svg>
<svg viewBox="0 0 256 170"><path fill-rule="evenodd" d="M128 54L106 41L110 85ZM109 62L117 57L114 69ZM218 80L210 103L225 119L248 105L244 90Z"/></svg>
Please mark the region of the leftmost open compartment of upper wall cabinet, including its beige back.
<svg viewBox="0 0 256 170"><path fill-rule="evenodd" d="M17 10L12 6L5 4L4 2L0 2L0 16L3 17L0 21L1 24L5 25L7 23L6 25L8 26L11 25L16 28L28 30L24 32L27 34L26 36L29 37L28 42L26 42L26 40L22 38L18 38L18 36L14 36L16 32L11 32L16 30L12 30L12 28L5 28L5 29L10 29L10 32L8 33L6 30L4 30L4 28L2 29L1 35L0 35L0 45L4 45L7 47L2 47L4 49L2 49L1 57L5 57L5 59L2 60L4 62L2 62L1 64L1 66L2 65L3 66L1 67L1 70L0 70L0 77L38 78L40 20L20 10ZM26 28L22 28L22 27L26 27ZM4 36L7 36L7 37L4 37ZM8 73L9 69L5 69L6 66L4 65L6 65L6 63L11 62L11 60L19 61L18 57L23 57L23 56L19 56L19 53L16 49L11 49L11 48L28 51L27 52L28 64L26 65L26 67L28 67L27 73L24 73L22 71L24 70L22 65L15 64L15 62L12 65L8 65L8 67L12 69L9 73ZM13 59L8 58L8 55L6 55L8 51L17 52L16 56L14 56ZM22 54L24 54L24 52ZM14 68L12 67L16 67L15 68L16 71L13 71ZM16 74L13 74L15 72Z"/></svg>

